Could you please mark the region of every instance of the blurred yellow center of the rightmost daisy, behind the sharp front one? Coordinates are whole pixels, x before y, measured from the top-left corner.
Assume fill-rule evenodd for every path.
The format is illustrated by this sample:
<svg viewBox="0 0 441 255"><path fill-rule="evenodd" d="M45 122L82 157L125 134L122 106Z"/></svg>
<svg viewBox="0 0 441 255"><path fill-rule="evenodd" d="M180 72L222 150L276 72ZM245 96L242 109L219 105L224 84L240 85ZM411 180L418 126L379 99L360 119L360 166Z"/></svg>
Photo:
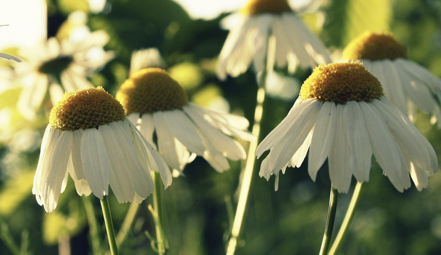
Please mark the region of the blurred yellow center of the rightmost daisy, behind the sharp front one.
<svg viewBox="0 0 441 255"><path fill-rule="evenodd" d="M407 58L404 45L392 34L366 32L353 39L343 51L345 59L391 59Z"/></svg>

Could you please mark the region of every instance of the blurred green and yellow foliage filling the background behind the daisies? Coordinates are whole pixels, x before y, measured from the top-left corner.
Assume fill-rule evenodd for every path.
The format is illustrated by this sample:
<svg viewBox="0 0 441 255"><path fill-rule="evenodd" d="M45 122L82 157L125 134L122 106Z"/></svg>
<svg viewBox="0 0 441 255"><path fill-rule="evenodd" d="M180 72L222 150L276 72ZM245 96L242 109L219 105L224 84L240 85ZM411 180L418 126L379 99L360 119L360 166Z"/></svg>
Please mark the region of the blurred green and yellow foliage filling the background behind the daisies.
<svg viewBox="0 0 441 255"><path fill-rule="evenodd" d="M86 1L48 0L48 31L58 31L68 13L87 10ZM111 40L107 50L116 53L91 81L115 93L127 78L131 52L157 47L168 70L187 89L189 99L198 104L224 97L232 112L243 114L250 121L254 115L257 86L252 71L217 80L214 67L227 31L213 20L193 20L172 0L112 0L105 13L88 15L91 30L105 30ZM346 43L364 30L391 31L409 50L409 59L441 76L441 4L437 0L329 0L322 8L325 14L319 36L325 44L341 50ZM305 16L311 25L313 16ZM299 72L304 80L310 70ZM14 100L18 92L11 90L0 98L0 108ZM262 119L262 135L269 133L284 118L292 102L267 98ZM18 120L16 120L18 123ZM44 120L41 120L44 122ZM45 124L36 125L44 127ZM419 114L418 128L441 155L441 132L429 124L429 117ZM34 127L35 128L35 127ZM42 134L42 131L41 131ZM246 145L246 143L243 143ZM23 152L28 167L19 170L0 165L0 218L4 219L16 243L23 231L30 234L33 254L58 254L60 235L71 238L72 255L91 254L89 227L84 206L69 182L60 196L53 214L38 206L31 194L32 176L37 163L38 149ZM11 155L8 143L0 145L2 162ZM203 159L187 165L185 176L177 177L164 193L166 208L165 233L170 245L168 255L221 255L229 237L231 219L228 205L237 203L241 162L230 162L232 169L217 173ZM326 164L325 164L326 165ZM252 187L250 207L244 222L243 239L238 255L312 255L321 244L328 200L329 174L326 166L318 173L317 181L310 180L306 170L307 158L299 169L288 169L280 176L279 191L274 180L256 177ZM338 254L357 255L438 255L441 254L441 176L430 178L429 188L418 192L411 187L397 192L383 176L373 160L370 181L363 187L354 221ZM336 227L340 225L351 197L340 195ZM105 229L99 202L91 196L105 240ZM145 231L154 233L149 215L148 198L141 204L133 230L120 250L122 255L149 255ZM227 202L226 202L227 201ZM228 202L231 201L231 202ZM110 196L112 216L119 229L128 204L119 204ZM103 241L103 247L106 247ZM9 255L0 241L0 254Z"/></svg>

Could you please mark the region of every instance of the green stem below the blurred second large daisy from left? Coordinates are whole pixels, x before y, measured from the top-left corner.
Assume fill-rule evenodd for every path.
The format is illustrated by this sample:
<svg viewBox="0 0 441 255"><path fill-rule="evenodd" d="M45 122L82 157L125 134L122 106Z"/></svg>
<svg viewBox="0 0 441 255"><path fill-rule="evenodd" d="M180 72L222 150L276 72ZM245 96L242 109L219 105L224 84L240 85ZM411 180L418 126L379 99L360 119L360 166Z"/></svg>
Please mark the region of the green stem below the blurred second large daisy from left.
<svg viewBox="0 0 441 255"><path fill-rule="evenodd" d="M162 189L164 186L162 185L161 176L159 173L152 171L153 184L155 189L153 191L153 211L152 216L155 222L156 228L156 240L158 244L158 254L164 255L165 249L168 248L167 238L164 233L164 211L163 211L163 202L162 202Z"/></svg>

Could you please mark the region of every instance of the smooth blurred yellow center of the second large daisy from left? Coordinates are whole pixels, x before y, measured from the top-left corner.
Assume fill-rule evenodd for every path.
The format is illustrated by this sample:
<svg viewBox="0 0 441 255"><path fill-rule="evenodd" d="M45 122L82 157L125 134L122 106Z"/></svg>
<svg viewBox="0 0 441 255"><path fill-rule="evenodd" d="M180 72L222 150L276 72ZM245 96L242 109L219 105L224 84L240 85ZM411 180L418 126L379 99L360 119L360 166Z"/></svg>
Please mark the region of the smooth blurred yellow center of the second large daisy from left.
<svg viewBox="0 0 441 255"><path fill-rule="evenodd" d="M188 103L187 93L161 68L146 68L132 74L118 92L127 115L181 109Z"/></svg>

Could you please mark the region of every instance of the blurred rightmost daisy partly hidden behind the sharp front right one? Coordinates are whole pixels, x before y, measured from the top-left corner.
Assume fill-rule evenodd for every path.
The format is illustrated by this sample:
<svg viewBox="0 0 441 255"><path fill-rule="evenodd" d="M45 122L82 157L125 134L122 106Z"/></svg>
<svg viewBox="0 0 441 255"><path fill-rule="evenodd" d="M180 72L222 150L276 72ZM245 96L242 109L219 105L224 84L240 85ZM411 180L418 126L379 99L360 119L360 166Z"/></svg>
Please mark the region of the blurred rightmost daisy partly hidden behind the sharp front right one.
<svg viewBox="0 0 441 255"><path fill-rule="evenodd" d="M378 78L385 96L411 120L418 108L431 114L441 128L441 79L407 59L406 48L392 34L366 32L343 51L347 60L359 59Z"/></svg>

